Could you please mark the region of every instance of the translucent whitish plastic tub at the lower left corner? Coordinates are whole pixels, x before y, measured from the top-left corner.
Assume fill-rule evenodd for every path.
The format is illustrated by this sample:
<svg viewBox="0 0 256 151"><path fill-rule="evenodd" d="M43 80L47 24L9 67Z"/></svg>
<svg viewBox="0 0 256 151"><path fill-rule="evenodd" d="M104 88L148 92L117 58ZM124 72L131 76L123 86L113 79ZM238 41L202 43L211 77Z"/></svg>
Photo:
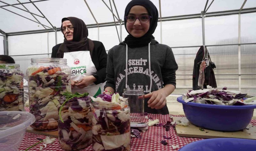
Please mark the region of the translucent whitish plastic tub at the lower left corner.
<svg viewBox="0 0 256 151"><path fill-rule="evenodd" d="M13 119L16 115L20 117ZM26 128L35 121L35 116L22 111L0 112L1 151L17 151L21 145Z"/></svg>

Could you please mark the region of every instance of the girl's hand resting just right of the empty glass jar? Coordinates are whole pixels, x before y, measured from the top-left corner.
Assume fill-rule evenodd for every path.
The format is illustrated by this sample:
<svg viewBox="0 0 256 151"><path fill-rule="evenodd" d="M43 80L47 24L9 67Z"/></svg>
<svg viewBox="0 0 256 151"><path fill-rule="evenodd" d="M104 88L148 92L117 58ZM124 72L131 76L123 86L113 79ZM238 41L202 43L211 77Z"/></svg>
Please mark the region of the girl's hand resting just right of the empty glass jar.
<svg viewBox="0 0 256 151"><path fill-rule="evenodd" d="M166 104L166 96L159 90L146 94L145 98L150 98L148 101L148 107L151 107L152 109L161 109Z"/></svg>

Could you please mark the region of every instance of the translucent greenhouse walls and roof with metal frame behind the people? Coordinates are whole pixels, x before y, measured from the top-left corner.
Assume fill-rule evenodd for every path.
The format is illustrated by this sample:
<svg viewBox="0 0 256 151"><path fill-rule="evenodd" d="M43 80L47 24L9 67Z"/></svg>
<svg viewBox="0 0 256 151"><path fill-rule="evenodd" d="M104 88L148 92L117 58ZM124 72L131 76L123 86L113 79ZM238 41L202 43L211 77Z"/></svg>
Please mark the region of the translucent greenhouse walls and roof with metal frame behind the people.
<svg viewBox="0 0 256 151"><path fill-rule="evenodd" d="M83 19L88 38L108 51L128 35L124 9L129 1L0 0L0 54L13 57L26 75L31 58L51 57L52 47L63 42L61 19L68 16ZM255 0L151 1L159 12L153 35L172 48L179 66L174 94L192 89L194 59L205 45L217 67L218 88L256 95Z"/></svg>

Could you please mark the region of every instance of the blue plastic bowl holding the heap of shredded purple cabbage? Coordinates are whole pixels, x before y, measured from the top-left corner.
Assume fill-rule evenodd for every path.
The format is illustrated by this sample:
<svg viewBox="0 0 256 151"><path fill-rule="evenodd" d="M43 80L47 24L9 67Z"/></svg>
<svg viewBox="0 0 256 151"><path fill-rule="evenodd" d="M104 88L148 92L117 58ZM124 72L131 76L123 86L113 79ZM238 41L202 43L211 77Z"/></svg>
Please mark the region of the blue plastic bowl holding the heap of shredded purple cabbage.
<svg viewBox="0 0 256 151"><path fill-rule="evenodd" d="M250 123L256 105L228 106L184 102L182 96L177 98L182 103L187 119L206 129L217 131L238 131Z"/></svg>

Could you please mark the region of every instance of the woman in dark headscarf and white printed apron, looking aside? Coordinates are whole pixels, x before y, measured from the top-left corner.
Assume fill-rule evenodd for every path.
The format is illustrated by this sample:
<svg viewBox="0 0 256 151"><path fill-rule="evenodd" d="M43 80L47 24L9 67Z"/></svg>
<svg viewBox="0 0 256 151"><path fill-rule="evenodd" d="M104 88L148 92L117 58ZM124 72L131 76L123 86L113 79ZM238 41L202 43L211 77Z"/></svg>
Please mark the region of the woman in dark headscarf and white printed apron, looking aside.
<svg viewBox="0 0 256 151"><path fill-rule="evenodd" d="M103 44L88 37L82 19L62 18L64 42L53 47L52 58L65 58L71 68L72 93L88 92L96 97L104 91L107 53Z"/></svg>

